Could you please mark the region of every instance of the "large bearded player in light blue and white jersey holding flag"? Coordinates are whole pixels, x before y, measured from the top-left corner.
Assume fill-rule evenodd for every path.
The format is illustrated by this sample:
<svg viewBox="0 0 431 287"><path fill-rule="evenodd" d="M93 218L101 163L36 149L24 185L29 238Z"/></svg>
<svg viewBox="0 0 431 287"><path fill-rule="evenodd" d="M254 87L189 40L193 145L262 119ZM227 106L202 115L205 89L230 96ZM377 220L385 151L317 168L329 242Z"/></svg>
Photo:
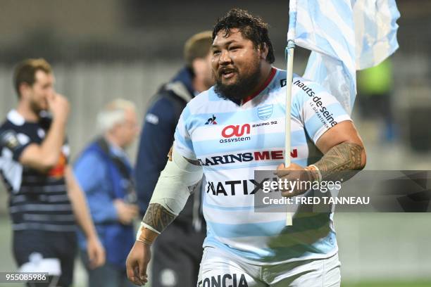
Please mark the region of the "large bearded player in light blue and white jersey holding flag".
<svg viewBox="0 0 431 287"><path fill-rule="evenodd" d="M361 170L366 153L353 122L319 84L298 76L286 80L286 72L272 66L273 46L261 18L229 11L215 24L212 51L216 84L190 101L180 117L172 160L142 219L127 276L137 285L146 283L151 243L184 207L189 186L205 174L208 231L198 286L339 286L332 213L294 217L286 226L285 212L255 212L261 183L254 171L277 168L289 177L291 171L313 170L311 180L324 180ZM288 102L287 86L292 86ZM217 125L205 125L208 117ZM285 117L291 119L287 151ZM287 167L286 155L292 157Z"/></svg>

